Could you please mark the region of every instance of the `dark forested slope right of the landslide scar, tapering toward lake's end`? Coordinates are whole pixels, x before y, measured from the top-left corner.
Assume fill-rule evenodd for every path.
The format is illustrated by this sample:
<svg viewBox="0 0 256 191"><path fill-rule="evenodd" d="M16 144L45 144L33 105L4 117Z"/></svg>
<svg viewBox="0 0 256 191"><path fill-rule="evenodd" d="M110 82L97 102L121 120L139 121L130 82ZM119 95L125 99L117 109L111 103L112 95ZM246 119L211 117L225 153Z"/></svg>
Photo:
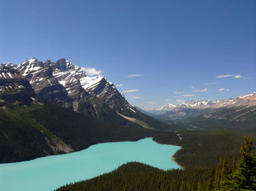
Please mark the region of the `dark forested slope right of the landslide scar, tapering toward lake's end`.
<svg viewBox="0 0 256 191"><path fill-rule="evenodd" d="M31 116L66 144L72 145L74 150L82 150L96 143L137 141L154 134L144 128L130 128L98 122L89 116L51 103L32 111Z"/></svg>

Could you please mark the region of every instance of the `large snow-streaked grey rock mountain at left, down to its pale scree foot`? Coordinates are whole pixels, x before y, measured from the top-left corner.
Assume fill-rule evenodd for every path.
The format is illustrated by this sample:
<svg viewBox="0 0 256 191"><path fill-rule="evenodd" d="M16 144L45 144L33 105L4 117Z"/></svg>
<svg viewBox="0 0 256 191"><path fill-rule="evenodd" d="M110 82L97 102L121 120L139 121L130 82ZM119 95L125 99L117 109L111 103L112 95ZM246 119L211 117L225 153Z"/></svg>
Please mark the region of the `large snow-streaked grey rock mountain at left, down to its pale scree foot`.
<svg viewBox="0 0 256 191"><path fill-rule="evenodd" d="M56 62L46 60L45 63L31 58L19 65L5 63L1 67L1 79L27 79L35 95L44 101L122 126L167 128L167 124L132 107L105 77L88 77L81 67L65 58ZM8 90L6 87L2 89Z"/></svg>

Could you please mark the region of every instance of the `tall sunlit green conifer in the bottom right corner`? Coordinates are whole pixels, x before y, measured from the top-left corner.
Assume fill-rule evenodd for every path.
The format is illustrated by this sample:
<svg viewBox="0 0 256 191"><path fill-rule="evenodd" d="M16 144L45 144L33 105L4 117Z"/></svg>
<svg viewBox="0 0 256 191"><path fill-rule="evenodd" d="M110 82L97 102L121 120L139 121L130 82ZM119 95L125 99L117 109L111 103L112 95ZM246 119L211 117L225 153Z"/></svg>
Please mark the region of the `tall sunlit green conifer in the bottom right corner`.
<svg viewBox="0 0 256 191"><path fill-rule="evenodd" d="M256 190L256 156L251 152L253 148L253 138L244 137L236 171L223 181L223 190Z"/></svg>

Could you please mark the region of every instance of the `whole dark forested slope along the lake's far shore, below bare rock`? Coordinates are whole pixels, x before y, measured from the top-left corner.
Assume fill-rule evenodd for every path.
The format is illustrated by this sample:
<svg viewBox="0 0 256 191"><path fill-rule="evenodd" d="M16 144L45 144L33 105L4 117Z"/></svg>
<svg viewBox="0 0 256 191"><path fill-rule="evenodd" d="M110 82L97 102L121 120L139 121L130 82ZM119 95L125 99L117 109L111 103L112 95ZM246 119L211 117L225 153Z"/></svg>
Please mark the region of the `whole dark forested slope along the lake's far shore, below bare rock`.
<svg viewBox="0 0 256 191"><path fill-rule="evenodd" d="M51 103L10 105L0 109L0 163L63 153L51 149L56 139L78 151L96 143L137 141L159 133L100 122ZM175 133L166 134L177 140Z"/></svg>

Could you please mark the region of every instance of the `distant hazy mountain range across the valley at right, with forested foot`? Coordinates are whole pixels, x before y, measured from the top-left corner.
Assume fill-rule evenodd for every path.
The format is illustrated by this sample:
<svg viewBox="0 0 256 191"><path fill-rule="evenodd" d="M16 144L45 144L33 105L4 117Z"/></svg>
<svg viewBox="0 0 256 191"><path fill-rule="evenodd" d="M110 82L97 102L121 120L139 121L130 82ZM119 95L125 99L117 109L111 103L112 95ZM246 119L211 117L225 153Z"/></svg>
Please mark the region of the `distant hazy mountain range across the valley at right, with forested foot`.
<svg viewBox="0 0 256 191"><path fill-rule="evenodd" d="M167 104L143 111L158 120L187 128L233 128L256 131L256 92L227 100L193 100L180 105Z"/></svg>

